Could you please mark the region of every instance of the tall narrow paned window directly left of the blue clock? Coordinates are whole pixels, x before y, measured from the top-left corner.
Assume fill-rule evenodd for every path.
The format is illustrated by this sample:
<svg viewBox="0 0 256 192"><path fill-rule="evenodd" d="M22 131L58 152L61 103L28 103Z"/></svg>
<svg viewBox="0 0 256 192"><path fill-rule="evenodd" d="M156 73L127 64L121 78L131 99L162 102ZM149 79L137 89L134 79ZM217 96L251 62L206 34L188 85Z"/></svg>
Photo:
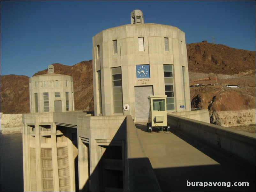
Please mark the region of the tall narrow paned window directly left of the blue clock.
<svg viewBox="0 0 256 192"><path fill-rule="evenodd" d="M121 67L111 69L114 113L123 113Z"/></svg>

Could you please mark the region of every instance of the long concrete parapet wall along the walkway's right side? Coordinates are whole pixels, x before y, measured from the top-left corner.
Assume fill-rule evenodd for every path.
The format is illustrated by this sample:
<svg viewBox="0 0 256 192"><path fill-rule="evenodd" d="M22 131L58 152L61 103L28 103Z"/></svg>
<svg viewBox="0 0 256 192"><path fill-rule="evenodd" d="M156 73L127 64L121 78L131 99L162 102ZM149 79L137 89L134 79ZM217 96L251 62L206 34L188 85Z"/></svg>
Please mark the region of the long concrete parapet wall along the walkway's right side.
<svg viewBox="0 0 256 192"><path fill-rule="evenodd" d="M181 129L255 165L255 134L168 114L170 127Z"/></svg>

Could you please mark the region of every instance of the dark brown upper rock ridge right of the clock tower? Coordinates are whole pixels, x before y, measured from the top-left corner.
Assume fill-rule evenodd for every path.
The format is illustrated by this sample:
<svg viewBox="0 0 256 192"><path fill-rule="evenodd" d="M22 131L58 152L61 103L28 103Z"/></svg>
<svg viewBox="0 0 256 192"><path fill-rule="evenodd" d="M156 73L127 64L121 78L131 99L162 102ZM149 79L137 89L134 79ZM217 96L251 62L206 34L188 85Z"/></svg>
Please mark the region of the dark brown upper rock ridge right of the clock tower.
<svg viewBox="0 0 256 192"><path fill-rule="evenodd" d="M234 75L252 70L255 51L230 48L207 42L187 44L189 71Z"/></svg>

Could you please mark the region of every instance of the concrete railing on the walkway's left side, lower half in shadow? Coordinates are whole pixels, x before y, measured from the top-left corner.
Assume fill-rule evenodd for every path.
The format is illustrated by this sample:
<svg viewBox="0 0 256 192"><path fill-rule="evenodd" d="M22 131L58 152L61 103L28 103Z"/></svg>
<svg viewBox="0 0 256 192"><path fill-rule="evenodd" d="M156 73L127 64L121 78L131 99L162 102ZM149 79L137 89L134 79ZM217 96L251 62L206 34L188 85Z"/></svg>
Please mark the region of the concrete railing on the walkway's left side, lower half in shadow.
<svg viewBox="0 0 256 192"><path fill-rule="evenodd" d="M125 151L124 191L162 191L131 115L126 116Z"/></svg>

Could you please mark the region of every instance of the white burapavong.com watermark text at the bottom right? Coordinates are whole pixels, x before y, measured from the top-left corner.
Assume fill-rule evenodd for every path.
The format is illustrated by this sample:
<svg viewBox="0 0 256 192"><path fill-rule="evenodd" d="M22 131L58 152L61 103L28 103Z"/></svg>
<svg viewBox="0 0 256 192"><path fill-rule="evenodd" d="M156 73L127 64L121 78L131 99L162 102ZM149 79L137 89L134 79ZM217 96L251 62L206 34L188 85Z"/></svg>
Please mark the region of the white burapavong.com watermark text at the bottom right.
<svg viewBox="0 0 256 192"><path fill-rule="evenodd" d="M246 187L249 186L249 182L234 182L231 184L231 182L189 182L187 181L187 186L201 186L201 187L208 187L208 186L214 186L214 187L232 187L232 186L239 186L239 187Z"/></svg>

